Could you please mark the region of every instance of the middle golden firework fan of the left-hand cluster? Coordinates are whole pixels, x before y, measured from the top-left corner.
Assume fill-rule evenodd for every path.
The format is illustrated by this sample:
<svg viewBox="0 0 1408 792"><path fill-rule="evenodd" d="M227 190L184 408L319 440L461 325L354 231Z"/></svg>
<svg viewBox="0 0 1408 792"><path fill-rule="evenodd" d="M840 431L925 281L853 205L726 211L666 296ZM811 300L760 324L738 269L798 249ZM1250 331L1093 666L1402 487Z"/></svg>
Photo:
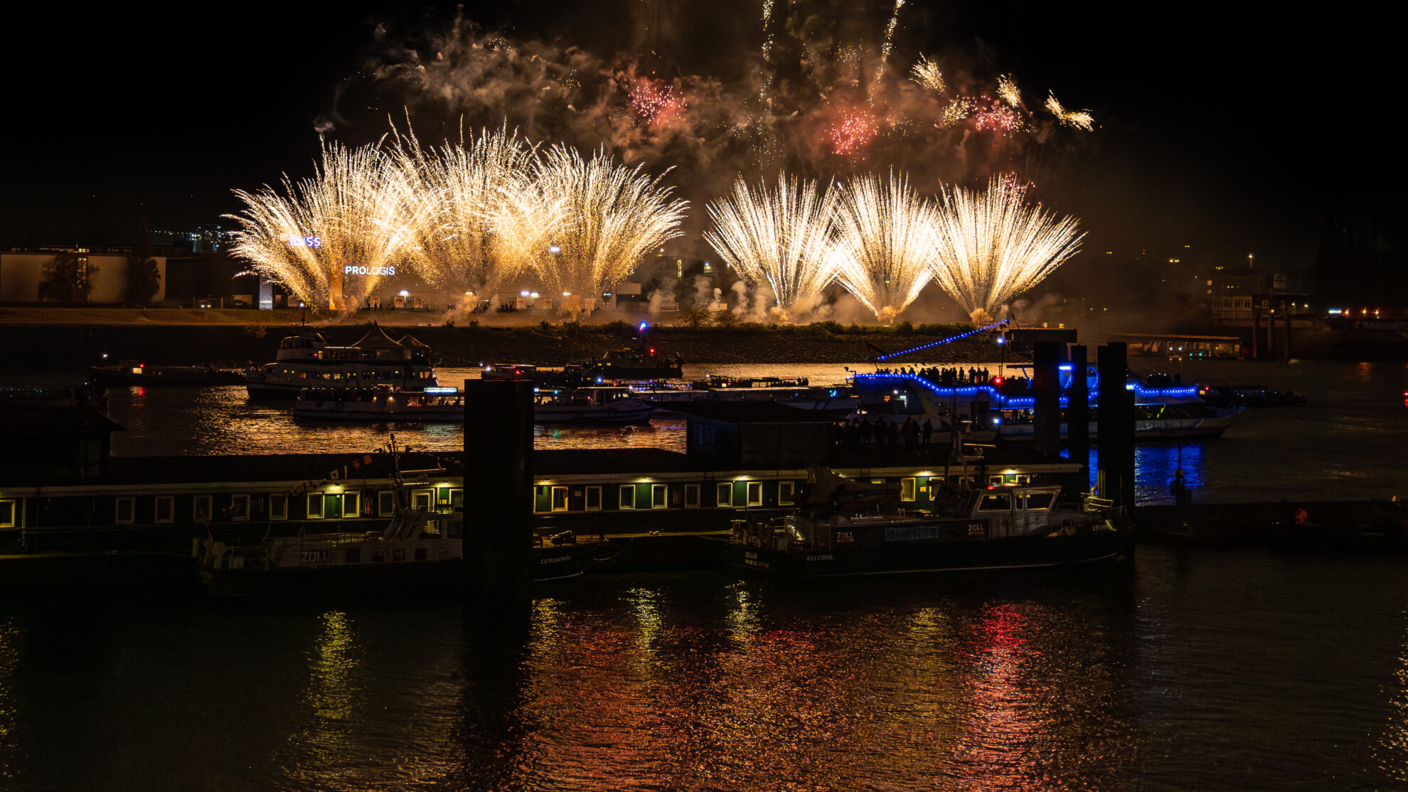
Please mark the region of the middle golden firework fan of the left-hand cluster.
<svg viewBox="0 0 1408 792"><path fill-rule="evenodd" d="M427 152L414 135L393 151L414 200L407 201L413 229L411 267L438 288L480 291L503 279L504 253L496 219L503 214L504 184L527 169L534 148L507 128L480 131L467 145Z"/></svg>

